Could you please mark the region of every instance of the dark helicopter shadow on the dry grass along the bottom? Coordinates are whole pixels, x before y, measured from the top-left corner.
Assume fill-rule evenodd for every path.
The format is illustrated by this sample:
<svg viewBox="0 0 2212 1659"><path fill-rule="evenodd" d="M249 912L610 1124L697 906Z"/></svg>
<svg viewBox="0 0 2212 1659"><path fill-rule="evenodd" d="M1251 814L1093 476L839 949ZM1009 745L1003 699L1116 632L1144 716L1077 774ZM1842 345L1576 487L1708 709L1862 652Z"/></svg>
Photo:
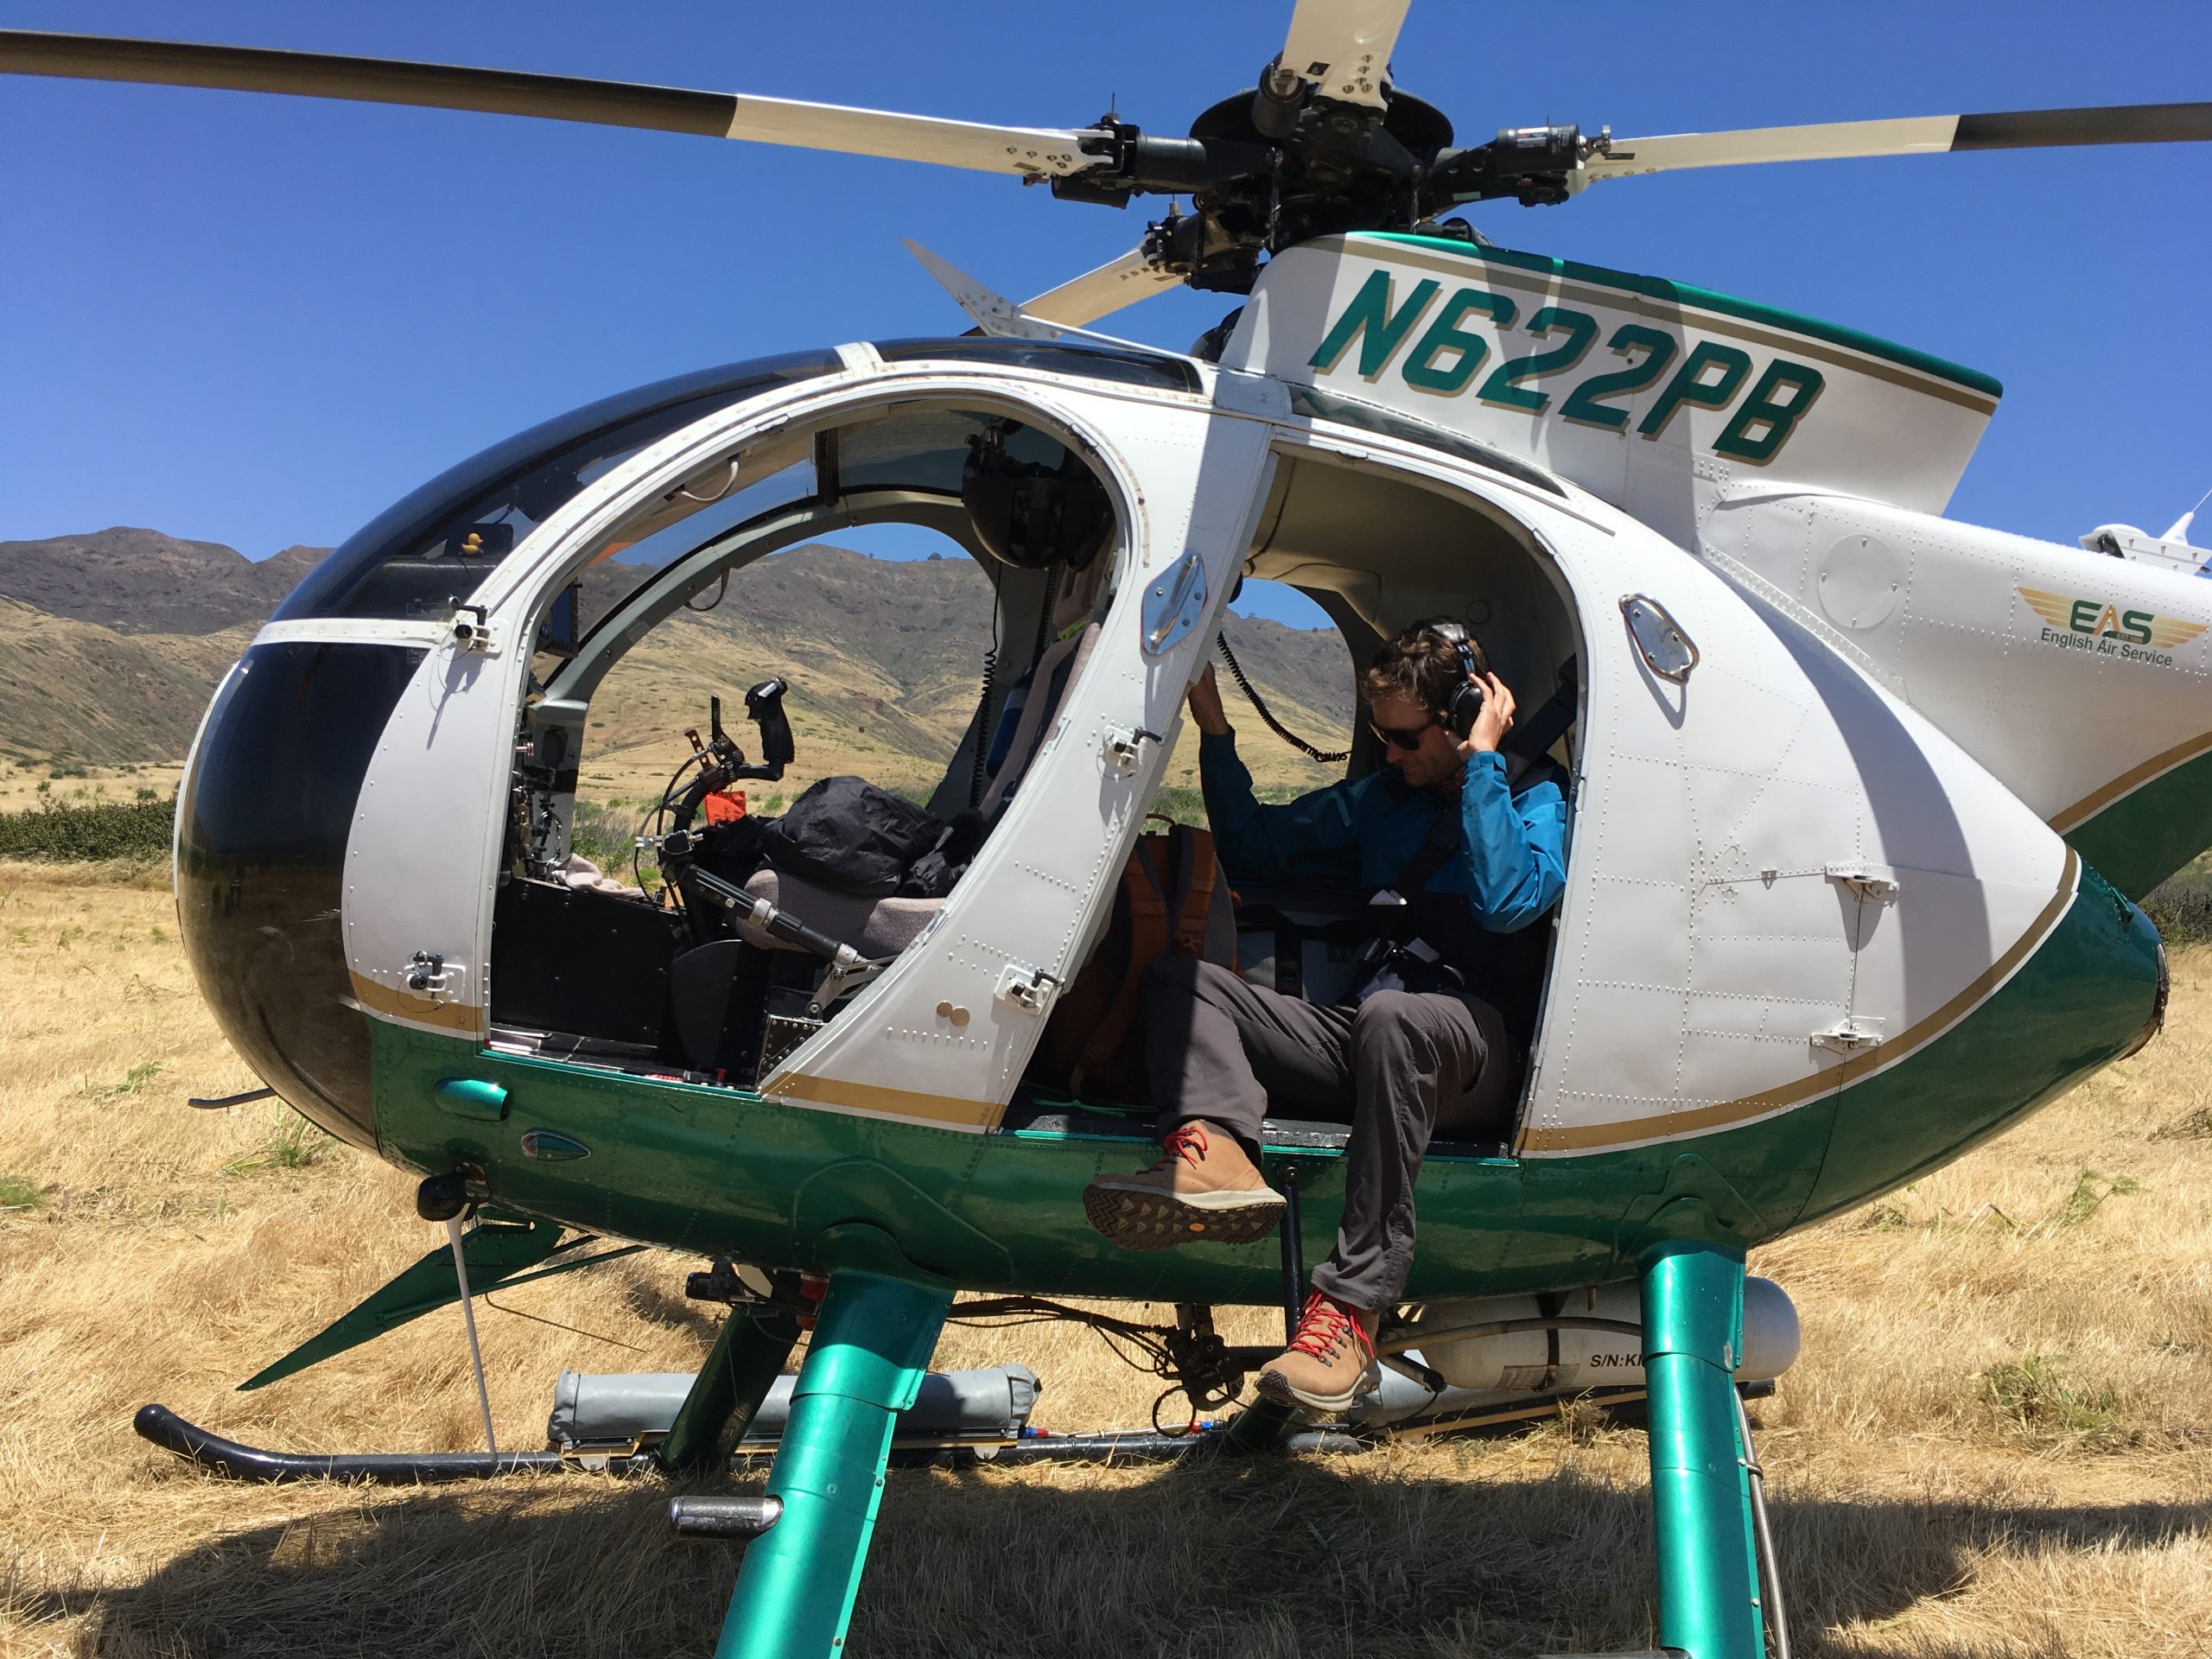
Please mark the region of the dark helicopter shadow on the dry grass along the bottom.
<svg viewBox="0 0 2212 1659"><path fill-rule="evenodd" d="M894 1473L847 1650L1411 1659L1652 1641L1639 1484L1577 1469L1489 1482L1387 1455ZM82 1652L126 1657L708 1655L739 1555L670 1540L666 1498L661 1482L568 1475L332 1495L316 1515L195 1544L142 1584L46 1588L18 1613L82 1617ZM2154 1548L2208 1526L2212 1502L1774 1504L1807 1657L1949 1659L1927 1632L1882 1646L1880 1624L1958 1597L1991 1555ZM2020 1615L2006 1652L2064 1652L2037 1617ZM1838 1626L1849 1644L1827 1635Z"/></svg>

